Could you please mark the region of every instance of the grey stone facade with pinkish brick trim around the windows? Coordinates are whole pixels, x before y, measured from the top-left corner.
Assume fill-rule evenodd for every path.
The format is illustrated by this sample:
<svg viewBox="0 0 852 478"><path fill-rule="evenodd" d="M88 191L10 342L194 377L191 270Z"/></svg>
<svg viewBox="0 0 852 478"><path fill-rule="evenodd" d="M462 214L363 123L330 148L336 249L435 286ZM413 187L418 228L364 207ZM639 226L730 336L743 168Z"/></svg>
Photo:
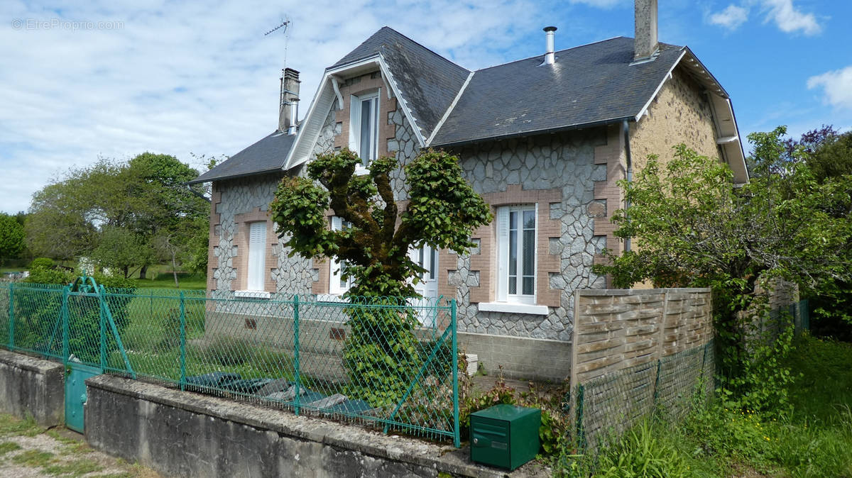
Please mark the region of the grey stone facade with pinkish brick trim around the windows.
<svg viewBox="0 0 852 478"><path fill-rule="evenodd" d="M378 153L393 154L401 164L417 156L420 148L412 125L400 102L387 97L386 86L377 73L343 84L343 105L336 101L327 113L313 156L348 145L348 99L373 88L380 88ZM718 155L709 100L698 83L676 69L649 106L648 115L638 125L630 125L634 168L642 168L643 158L649 153L671 157L671 146L680 142L702 154ZM607 278L594 274L592 265L600 259L603 249L618 252L623 248L613 236L614 226L609 221L613 212L624 206L617 185L626 171L625 138L620 125L484 141L451 152L461 158L465 179L492 208L537 205L536 295L538 305L547 306L546 314L535 315L481 310L479 304L494 301L497 269L495 225L487 225L475 231L473 239L478 247L468 255L439 253L438 293L457 300L459 331L569 341L574 291L607 287ZM665 156L667 153L669 156ZM298 174L304 174L304 168L300 169ZM240 220L256 220L258 214L267 211L281 177L268 174L215 185L209 287L214 297L227 296L241 283ZM405 201L401 168L392 173L392 184L397 200ZM250 216L245 216L247 213ZM268 230L273 230L271 222ZM272 264L268 292L288 297L296 293L328 293L328 263L287 258L283 242L274 235L270 239L269 253L274 260L268 261Z"/></svg>

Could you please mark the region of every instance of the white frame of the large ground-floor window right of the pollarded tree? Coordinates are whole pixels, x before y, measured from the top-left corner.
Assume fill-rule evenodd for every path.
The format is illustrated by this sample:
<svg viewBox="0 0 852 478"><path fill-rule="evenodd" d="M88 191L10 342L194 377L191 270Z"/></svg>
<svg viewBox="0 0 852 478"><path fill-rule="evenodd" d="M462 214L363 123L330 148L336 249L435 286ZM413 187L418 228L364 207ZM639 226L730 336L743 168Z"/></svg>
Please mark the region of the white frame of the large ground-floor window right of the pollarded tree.
<svg viewBox="0 0 852 478"><path fill-rule="evenodd" d="M533 293L525 294L523 290L524 234L522 216L524 212L535 214L535 230L533 233ZM509 292L509 214L517 213L517 253L515 254L515 293ZM538 288L538 205L519 204L504 206L497 209L497 301L513 304L536 304L536 289ZM519 293L521 292L521 293Z"/></svg>

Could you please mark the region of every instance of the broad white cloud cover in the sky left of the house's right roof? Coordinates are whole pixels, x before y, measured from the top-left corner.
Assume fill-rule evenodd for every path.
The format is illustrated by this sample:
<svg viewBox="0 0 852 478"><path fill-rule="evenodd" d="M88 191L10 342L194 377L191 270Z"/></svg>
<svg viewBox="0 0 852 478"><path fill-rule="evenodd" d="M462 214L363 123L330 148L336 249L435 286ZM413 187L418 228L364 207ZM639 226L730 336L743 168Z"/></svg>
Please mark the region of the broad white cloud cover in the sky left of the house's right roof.
<svg viewBox="0 0 852 478"><path fill-rule="evenodd" d="M56 9L46 0L7 0L0 25L0 211L26 210L34 191L99 155L122 160L153 151L190 162L191 151L233 155L261 139L277 125L285 46L279 33L263 33L285 14L293 20L287 65L302 72L306 106L325 67L384 25L466 68L481 68L519 58L516 46L539 34L548 8L533 0L252 0L215 7L101 0ZM92 21L95 28L50 26L52 20ZM100 20L121 23L98 29Z"/></svg>

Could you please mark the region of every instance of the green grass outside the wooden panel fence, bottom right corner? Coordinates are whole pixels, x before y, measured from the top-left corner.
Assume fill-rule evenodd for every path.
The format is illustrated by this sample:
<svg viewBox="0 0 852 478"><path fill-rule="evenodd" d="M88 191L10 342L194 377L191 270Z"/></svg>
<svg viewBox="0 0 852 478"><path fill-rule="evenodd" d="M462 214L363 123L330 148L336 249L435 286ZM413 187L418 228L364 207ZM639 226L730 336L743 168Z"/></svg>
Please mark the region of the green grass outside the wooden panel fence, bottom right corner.
<svg viewBox="0 0 852 478"><path fill-rule="evenodd" d="M797 339L787 358L802 373L792 407L752 413L717 403L681 424L649 419L590 464L563 457L568 476L852 477L852 344Z"/></svg>

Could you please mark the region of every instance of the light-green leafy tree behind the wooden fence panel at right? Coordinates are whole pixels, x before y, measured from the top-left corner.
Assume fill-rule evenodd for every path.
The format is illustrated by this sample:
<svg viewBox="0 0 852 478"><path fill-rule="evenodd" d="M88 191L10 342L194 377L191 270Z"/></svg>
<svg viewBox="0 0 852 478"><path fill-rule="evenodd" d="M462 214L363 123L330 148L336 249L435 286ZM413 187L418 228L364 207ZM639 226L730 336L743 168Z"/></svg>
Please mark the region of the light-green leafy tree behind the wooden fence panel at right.
<svg viewBox="0 0 852 478"><path fill-rule="evenodd" d="M728 386L753 399L751 407L783 401L768 390L790 380L789 371L777 367L786 344L746 348L751 317L767 306L756 286L768 290L773 279L783 278L807 292L852 276L852 227L848 218L830 213L852 206L852 182L820 184L803 157L787 161L784 133L777 128L749 136L757 174L739 189L727 165L684 145L676 146L665 168L651 156L634 182L621 183L630 208L613 215L615 234L636 238L637 248L597 267L612 274L617 287L644 280L659 287L712 287Z"/></svg>

